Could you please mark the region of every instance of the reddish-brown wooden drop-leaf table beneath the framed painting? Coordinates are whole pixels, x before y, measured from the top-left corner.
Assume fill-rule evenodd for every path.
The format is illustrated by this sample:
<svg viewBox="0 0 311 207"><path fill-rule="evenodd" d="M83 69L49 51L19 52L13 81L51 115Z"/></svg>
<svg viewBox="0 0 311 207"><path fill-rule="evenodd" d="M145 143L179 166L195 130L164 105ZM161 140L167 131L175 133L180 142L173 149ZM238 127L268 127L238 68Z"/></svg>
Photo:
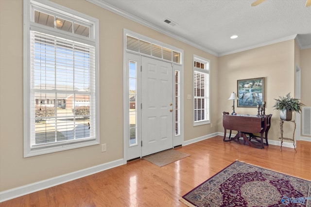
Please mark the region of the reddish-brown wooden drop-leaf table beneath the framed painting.
<svg viewBox="0 0 311 207"><path fill-rule="evenodd" d="M244 139L244 143L248 143L250 146L262 149L263 146L263 133L265 133L265 119L266 116L256 116L256 115L223 115L223 127L225 128L224 142L229 142L237 140L240 143L239 138ZM238 131L234 138L226 140L226 130L231 129ZM260 145L252 143L246 137L245 133L260 133L261 143Z"/></svg>

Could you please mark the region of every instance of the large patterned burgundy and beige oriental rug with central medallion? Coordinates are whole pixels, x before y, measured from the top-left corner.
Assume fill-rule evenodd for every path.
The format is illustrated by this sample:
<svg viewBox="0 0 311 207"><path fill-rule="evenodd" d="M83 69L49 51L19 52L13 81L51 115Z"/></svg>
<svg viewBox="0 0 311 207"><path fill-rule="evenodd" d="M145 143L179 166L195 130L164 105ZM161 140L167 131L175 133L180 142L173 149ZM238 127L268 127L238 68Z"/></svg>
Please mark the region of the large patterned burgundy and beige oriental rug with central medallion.
<svg viewBox="0 0 311 207"><path fill-rule="evenodd" d="M311 181L235 161L180 201L189 207L311 207Z"/></svg>

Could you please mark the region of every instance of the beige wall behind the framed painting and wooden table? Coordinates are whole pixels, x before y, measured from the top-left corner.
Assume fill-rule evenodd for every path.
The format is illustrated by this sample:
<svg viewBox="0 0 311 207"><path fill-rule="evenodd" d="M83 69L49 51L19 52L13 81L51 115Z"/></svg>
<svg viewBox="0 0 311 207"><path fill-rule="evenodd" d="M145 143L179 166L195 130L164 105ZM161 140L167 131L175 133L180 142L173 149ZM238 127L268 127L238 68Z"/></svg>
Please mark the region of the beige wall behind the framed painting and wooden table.
<svg viewBox="0 0 311 207"><path fill-rule="evenodd" d="M237 80L265 77L266 114L272 113L269 139L278 140L279 111L273 110L274 98L294 95L294 40L226 55L219 58L219 121L222 126L222 111L232 111L232 92L237 92ZM236 103L236 102L235 102ZM236 108L239 114L257 114L257 108Z"/></svg>

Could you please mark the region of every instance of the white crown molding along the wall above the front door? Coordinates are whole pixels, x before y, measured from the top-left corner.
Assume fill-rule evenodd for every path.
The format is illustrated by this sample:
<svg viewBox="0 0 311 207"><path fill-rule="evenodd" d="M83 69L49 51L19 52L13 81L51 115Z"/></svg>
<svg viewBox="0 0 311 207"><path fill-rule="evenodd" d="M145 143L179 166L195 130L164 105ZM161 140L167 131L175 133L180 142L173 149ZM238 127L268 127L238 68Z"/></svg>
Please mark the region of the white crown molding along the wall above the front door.
<svg viewBox="0 0 311 207"><path fill-rule="evenodd" d="M112 6L111 4L108 4L108 3L104 2L104 1L102 1L102 0L87 0L87 1L93 3L93 4L97 5L97 6L100 6L100 7L104 8L104 9L106 9L106 10L109 10L110 12L116 13L116 14L118 14L120 16L128 18L128 19L130 19L132 21L135 21L135 22L137 22L137 23L139 23L139 24L141 24L143 26L149 27L150 29L153 29L156 32L161 32L161 33L163 33L165 35L168 35L168 36L170 36L170 37L172 37L172 38L174 38L176 40L179 40L179 41L181 41L183 43L186 43L186 44L188 44L190 46L193 46L195 48L198 48L198 49L201 49L201 50L203 50L205 52L208 52L209 54L215 55L217 57L219 56L219 54L217 52L215 52L215 51L212 51L212 50L210 50L208 48L202 47L202 46L200 46L200 45L198 45L198 44L196 44L194 42L191 42L188 39L185 39L185 38L183 38L183 37L173 33L173 32L168 32L167 30L164 30L164 29L162 29L162 28L160 28L160 27L158 27L158 26L156 26L154 24L151 24L150 22L147 22L147 21L145 21L145 20L143 20L141 18L138 18L137 16L129 14L129 13L127 13L127 12L125 12L125 11L115 7L115 6Z"/></svg>

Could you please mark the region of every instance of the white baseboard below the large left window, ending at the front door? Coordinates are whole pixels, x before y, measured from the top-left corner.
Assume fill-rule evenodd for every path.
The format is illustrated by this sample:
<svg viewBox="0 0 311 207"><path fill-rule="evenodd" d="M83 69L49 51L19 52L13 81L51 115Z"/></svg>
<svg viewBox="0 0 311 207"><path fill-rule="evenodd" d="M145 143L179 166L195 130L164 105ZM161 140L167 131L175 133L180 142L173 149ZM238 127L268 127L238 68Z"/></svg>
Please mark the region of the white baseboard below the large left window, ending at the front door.
<svg viewBox="0 0 311 207"><path fill-rule="evenodd" d="M93 166L76 172L72 172L65 175L60 175L57 177L52 177L50 179L42 180L39 182L31 183L28 185L20 186L14 189L0 192L0 202L7 201L13 198L17 198L22 195L26 195L35 191L41 191L62 183L69 182L87 175L92 175L95 173L108 170L117 166L123 165L123 159L114 160L101 165Z"/></svg>

